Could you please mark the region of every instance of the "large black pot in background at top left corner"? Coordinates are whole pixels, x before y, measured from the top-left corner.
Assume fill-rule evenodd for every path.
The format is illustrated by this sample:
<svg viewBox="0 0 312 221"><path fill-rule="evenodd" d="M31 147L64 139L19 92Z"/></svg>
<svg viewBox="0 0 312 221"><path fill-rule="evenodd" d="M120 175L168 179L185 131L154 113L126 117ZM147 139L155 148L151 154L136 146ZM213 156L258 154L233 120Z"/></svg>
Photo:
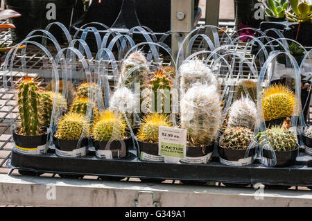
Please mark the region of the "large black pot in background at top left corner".
<svg viewBox="0 0 312 221"><path fill-rule="evenodd" d="M10 22L16 26L11 29L11 35L14 42L20 42L28 33L36 29L44 29L55 21L59 21L67 28L70 27L73 6L76 6L76 0L5 0L6 7L15 10L21 14L21 17L10 19ZM55 19L48 19L55 5ZM54 4L54 5L53 5ZM50 32L59 41L63 42L62 30L57 26L52 26ZM39 39L37 39L39 40Z"/></svg>

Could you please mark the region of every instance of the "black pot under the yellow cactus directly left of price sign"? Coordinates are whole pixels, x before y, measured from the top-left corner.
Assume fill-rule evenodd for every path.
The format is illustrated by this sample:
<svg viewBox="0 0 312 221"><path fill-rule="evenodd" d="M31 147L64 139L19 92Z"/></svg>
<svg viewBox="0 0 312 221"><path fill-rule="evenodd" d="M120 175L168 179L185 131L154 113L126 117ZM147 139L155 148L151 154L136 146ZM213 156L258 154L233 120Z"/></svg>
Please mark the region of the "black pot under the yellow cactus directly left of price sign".
<svg viewBox="0 0 312 221"><path fill-rule="evenodd" d="M146 143L137 140L140 148L140 159L145 161L164 161L164 157L158 155L158 143Z"/></svg>

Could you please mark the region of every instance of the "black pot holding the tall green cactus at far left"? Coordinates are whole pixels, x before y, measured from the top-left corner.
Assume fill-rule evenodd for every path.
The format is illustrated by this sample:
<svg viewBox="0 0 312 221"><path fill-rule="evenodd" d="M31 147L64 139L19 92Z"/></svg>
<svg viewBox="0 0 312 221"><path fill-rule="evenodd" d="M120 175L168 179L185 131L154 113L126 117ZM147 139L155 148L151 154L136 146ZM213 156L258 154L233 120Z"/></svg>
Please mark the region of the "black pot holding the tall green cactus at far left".
<svg viewBox="0 0 312 221"><path fill-rule="evenodd" d="M15 131L12 133L15 144L21 148L37 148L40 145L44 145L48 138L47 133L39 136L24 136L17 134Z"/></svg>

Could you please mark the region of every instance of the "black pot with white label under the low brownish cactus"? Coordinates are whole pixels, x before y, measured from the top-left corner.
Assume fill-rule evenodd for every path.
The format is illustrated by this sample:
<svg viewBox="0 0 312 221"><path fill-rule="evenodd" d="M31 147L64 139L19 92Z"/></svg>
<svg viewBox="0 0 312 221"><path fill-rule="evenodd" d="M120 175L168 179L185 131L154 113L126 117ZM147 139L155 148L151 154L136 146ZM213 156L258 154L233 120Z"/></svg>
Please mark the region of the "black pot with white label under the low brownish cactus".
<svg viewBox="0 0 312 221"><path fill-rule="evenodd" d="M248 158L245 158L245 152L247 150L232 150L227 148L221 148L218 146L218 153L220 156L220 162L230 166L245 166L252 163L252 157L256 152L256 148L251 148L249 150ZM233 162L231 165L230 162ZM235 163L234 163L235 162ZM236 165L239 163L238 165Z"/></svg>

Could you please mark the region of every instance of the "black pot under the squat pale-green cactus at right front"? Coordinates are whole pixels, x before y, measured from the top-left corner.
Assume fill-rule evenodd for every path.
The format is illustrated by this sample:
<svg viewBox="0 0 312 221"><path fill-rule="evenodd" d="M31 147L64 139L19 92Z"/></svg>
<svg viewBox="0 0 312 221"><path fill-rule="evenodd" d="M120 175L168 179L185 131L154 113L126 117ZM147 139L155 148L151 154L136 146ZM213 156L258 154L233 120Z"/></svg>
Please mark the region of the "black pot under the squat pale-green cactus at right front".
<svg viewBox="0 0 312 221"><path fill-rule="evenodd" d="M291 166L295 163L298 156L300 146L297 145L295 150L288 151L275 151L276 165L275 166ZM263 149L262 156L268 159L272 159L272 152L270 150Z"/></svg>

